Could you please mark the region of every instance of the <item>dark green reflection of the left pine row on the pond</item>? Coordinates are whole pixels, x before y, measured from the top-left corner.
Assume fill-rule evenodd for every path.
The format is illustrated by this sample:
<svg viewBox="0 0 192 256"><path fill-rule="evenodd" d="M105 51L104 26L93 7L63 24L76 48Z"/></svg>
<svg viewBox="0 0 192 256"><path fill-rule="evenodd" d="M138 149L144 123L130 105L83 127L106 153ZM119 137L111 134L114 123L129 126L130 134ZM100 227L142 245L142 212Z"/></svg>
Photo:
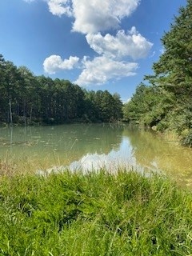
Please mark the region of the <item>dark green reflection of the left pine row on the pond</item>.
<svg viewBox="0 0 192 256"><path fill-rule="evenodd" d="M118 149L122 130L108 124L6 127L0 129L0 158L31 159L44 167L67 165L86 154Z"/></svg>

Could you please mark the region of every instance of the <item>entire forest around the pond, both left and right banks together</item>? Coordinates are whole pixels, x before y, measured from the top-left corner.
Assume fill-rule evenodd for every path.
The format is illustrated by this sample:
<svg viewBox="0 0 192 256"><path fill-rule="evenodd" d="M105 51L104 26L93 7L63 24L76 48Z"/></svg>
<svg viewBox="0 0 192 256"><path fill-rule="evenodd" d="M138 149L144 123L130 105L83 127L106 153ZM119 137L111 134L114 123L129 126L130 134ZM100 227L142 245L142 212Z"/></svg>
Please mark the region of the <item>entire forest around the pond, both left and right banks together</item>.
<svg viewBox="0 0 192 256"><path fill-rule="evenodd" d="M124 106L118 94L35 76L0 54L0 123L59 124L124 120L176 133L192 146L192 0L162 37L163 54Z"/></svg>

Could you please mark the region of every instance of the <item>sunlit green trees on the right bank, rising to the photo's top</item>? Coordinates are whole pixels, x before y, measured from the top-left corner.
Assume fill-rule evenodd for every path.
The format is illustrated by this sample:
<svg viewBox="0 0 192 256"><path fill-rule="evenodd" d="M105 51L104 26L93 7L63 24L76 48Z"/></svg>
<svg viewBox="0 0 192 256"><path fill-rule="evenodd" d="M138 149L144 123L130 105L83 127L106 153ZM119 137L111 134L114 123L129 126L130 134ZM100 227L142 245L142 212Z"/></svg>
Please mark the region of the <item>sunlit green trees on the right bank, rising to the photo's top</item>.
<svg viewBox="0 0 192 256"><path fill-rule="evenodd" d="M175 131L192 146L192 0L179 9L162 46L154 74L146 75L124 106L124 118L159 131Z"/></svg>

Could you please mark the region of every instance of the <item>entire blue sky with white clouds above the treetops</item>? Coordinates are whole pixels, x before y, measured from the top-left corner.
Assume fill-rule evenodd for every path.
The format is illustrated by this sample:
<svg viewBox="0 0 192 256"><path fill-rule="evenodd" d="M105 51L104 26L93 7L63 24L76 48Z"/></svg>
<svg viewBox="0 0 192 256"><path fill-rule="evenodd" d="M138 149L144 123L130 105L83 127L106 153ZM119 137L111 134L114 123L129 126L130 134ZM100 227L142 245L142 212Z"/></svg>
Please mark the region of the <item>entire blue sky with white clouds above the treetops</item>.
<svg viewBox="0 0 192 256"><path fill-rule="evenodd" d="M0 0L0 54L127 102L153 74L181 6L186 0Z"/></svg>

